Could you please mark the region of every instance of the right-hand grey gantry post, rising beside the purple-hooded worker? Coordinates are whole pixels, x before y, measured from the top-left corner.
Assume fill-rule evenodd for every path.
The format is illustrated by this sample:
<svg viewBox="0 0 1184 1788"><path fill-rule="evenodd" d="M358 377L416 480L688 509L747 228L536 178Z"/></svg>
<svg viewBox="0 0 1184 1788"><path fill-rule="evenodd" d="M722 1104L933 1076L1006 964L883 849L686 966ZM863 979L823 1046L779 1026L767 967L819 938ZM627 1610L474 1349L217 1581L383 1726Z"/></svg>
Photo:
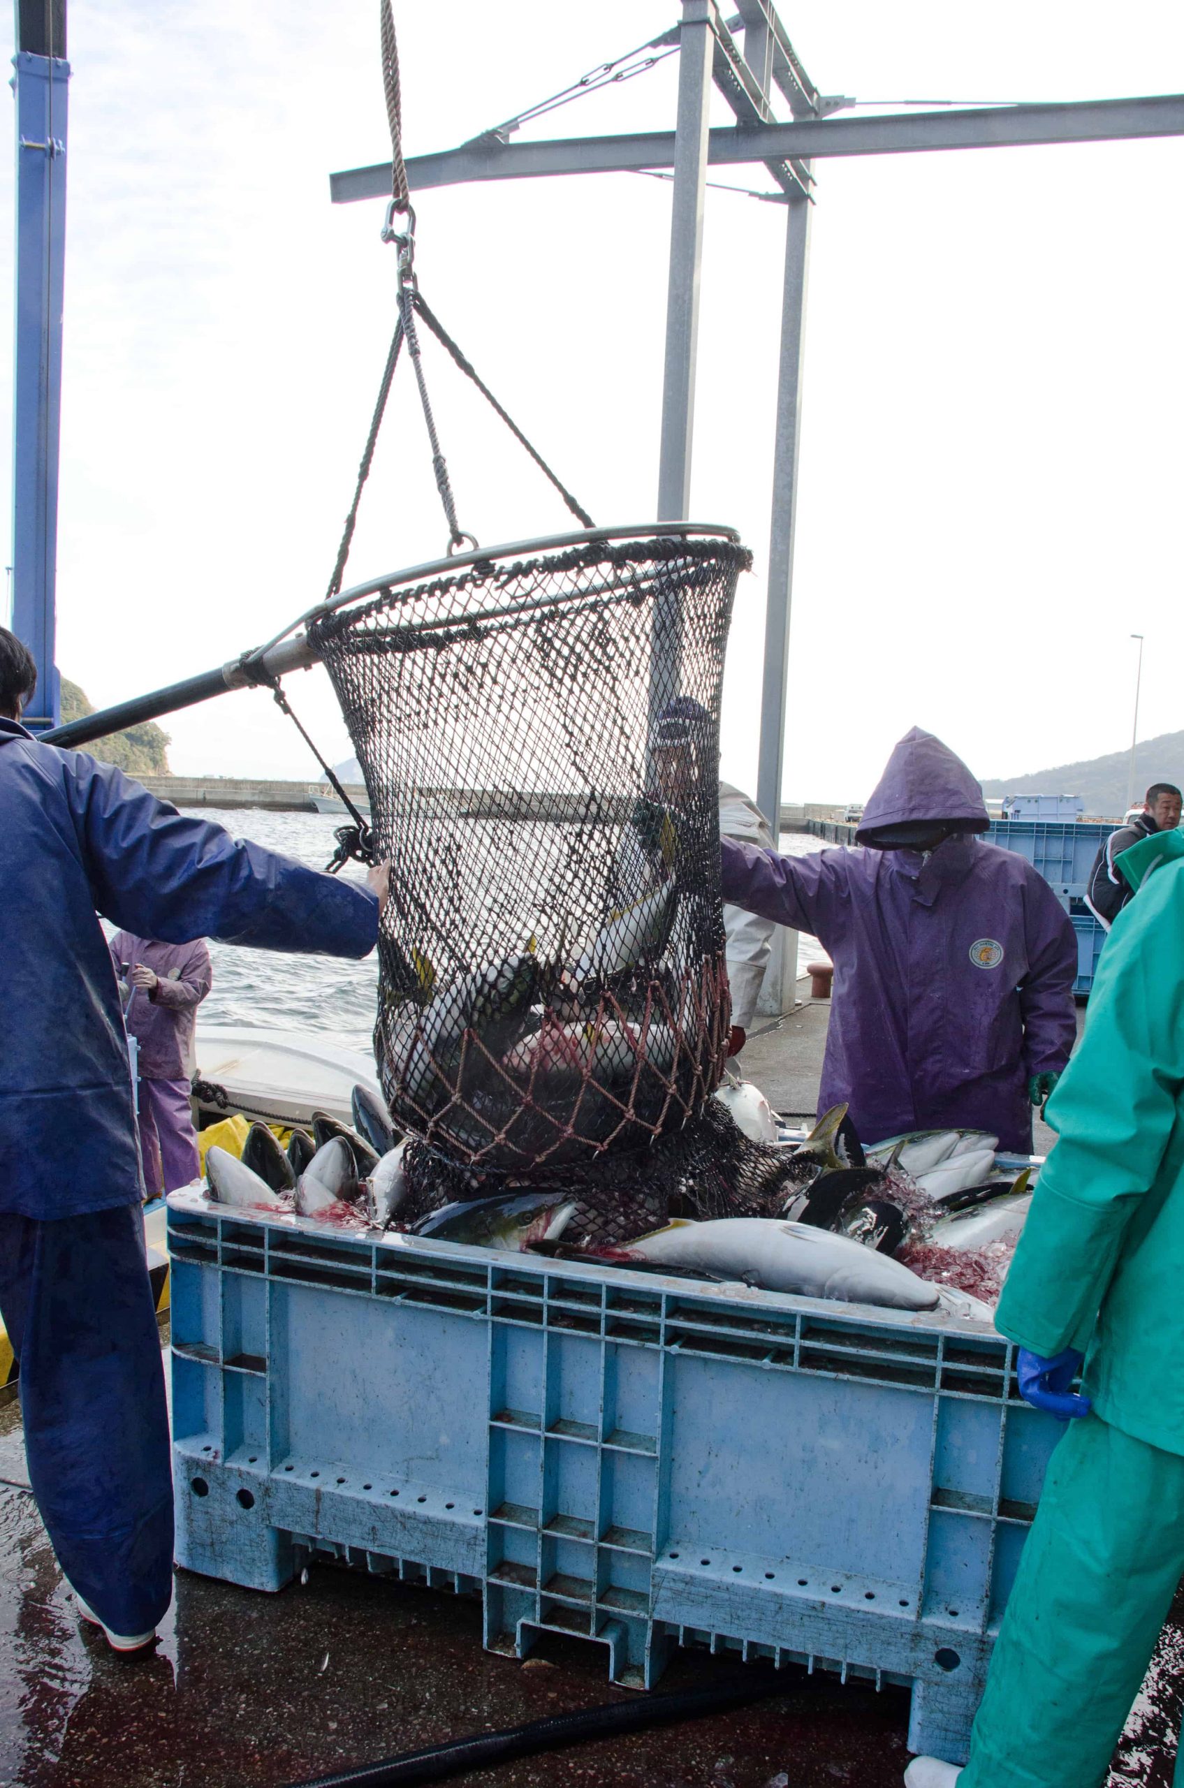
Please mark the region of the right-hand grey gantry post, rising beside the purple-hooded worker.
<svg viewBox="0 0 1184 1788"><path fill-rule="evenodd" d="M801 434L801 370L805 347L810 211L807 198L791 200L785 218L785 281L782 286L782 358L776 384L773 447L773 517L769 524L769 594L765 601L765 658L760 688L760 747L757 806L782 830L782 762L785 756L785 699L789 683L789 617L794 586L794 531L798 526L798 442ZM764 1012L789 1012L798 982L798 933L778 930L760 991Z"/></svg>

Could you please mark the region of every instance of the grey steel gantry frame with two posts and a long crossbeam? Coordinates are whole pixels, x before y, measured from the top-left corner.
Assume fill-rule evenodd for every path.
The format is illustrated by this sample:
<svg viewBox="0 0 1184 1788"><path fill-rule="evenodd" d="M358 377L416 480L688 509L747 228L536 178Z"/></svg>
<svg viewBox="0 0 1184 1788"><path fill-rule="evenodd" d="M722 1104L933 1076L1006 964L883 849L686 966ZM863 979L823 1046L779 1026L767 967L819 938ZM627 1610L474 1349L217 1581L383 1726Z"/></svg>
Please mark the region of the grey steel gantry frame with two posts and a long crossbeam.
<svg viewBox="0 0 1184 1788"><path fill-rule="evenodd" d="M757 805L769 817L776 833L785 756L814 161L826 156L885 156L1180 136L1184 134L1184 95L837 118L833 113L844 111L855 102L841 95L819 93L771 0L735 0L735 4L739 16L724 21L715 0L683 0L678 116L672 132L562 138L540 143L510 143L506 131L485 132L470 143L461 143L460 148L436 156L415 156L408 159L406 172L411 191L422 191L469 181L674 170L658 520L689 519L706 170L708 166L764 163L778 184L776 197L785 206L787 229L757 763ZM712 88L723 93L735 114L737 122L730 129L710 129ZM785 100L791 123L774 120L773 89ZM334 204L386 198L390 195L390 163L333 173L329 190ZM778 949L765 976L762 1008L789 1010L794 980L796 937L778 932Z"/></svg>

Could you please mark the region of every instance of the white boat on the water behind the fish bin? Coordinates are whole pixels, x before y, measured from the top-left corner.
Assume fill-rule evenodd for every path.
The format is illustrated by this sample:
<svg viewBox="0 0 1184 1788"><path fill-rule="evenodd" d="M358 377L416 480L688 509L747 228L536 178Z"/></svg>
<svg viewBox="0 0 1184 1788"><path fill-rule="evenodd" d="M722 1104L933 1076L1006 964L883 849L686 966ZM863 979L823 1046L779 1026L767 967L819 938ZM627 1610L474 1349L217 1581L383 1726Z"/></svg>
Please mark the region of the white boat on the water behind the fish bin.
<svg viewBox="0 0 1184 1788"><path fill-rule="evenodd" d="M372 1055L304 1030L199 1023L197 1073L225 1092L225 1107L211 1096L195 1098L199 1114L207 1118L241 1112L265 1123L306 1125L313 1112L327 1112L352 1123L356 1085L381 1098Z"/></svg>

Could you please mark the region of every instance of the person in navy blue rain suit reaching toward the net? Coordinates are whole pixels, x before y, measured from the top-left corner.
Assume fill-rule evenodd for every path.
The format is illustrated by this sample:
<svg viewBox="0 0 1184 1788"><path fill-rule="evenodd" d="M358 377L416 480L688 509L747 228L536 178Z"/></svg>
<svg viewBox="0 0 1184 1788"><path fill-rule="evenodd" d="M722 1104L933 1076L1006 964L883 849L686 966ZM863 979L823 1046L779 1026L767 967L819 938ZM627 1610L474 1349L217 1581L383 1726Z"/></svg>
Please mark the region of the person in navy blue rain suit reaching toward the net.
<svg viewBox="0 0 1184 1788"><path fill-rule="evenodd" d="M118 1650L172 1597L165 1377L136 1116L97 910L138 937L365 957L370 887L181 815L20 724L30 654L0 628L0 1318L20 1357L29 1479L79 1613Z"/></svg>

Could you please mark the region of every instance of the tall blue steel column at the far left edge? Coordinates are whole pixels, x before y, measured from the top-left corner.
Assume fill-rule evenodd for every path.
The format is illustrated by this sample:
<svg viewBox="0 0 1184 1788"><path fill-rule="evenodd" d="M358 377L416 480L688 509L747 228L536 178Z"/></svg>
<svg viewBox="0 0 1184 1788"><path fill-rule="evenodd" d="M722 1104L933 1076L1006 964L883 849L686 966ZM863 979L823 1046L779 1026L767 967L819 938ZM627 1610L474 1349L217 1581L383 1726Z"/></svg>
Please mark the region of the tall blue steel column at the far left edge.
<svg viewBox="0 0 1184 1788"><path fill-rule="evenodd" d="M13 401L13 631L38 662L25 712L57 726L57 451L66 249L66 82L57 55L13 57L16 79L16 374Z"/></svg>

